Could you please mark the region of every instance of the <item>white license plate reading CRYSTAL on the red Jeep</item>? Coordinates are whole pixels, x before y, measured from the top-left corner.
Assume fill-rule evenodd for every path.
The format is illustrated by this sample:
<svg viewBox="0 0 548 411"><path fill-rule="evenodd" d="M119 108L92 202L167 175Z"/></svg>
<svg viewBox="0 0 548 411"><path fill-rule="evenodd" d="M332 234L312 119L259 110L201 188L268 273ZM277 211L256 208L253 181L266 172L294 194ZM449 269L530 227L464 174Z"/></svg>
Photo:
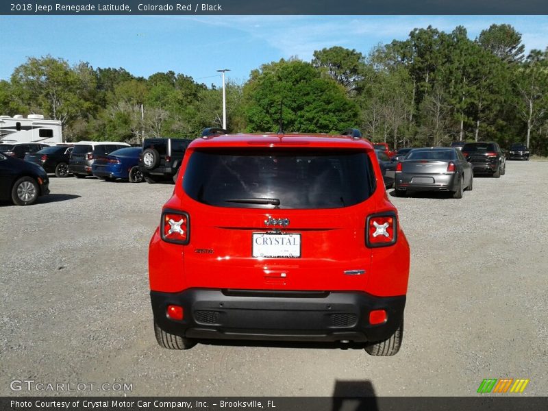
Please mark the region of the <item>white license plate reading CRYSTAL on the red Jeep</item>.
<svg viewBox="0 0 548 411"><path fill-rule="evenodd" d="M253 233L253 257L299 258L301 234Z"/></svg>

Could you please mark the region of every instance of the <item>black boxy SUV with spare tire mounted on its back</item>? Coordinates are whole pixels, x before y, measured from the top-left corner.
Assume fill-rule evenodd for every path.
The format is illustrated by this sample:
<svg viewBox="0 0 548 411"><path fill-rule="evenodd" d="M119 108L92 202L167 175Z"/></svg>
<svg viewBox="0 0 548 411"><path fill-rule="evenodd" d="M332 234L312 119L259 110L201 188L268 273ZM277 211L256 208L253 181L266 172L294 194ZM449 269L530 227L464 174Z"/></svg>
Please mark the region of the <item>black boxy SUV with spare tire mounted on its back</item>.
<svg viewBox="0 0 548 411"><path fill-rule="evenodd" d="M186 138L145 138L139 167L148 183L169 177L175 179L186 147L192 140Z"/></svg>

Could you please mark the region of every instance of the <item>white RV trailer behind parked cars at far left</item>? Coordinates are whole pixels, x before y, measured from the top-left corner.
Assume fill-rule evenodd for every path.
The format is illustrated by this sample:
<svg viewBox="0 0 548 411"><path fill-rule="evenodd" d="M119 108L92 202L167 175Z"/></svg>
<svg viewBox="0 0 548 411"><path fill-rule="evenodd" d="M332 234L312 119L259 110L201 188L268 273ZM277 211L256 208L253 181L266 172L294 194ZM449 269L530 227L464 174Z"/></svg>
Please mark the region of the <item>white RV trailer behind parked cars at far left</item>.
<svg viewBox="0 0 548 411"><path fill-rule="evenodd" d="M0 116L0 143L42 142L55 145L62 140L61 121L44 119L41 114Z"/></svg>

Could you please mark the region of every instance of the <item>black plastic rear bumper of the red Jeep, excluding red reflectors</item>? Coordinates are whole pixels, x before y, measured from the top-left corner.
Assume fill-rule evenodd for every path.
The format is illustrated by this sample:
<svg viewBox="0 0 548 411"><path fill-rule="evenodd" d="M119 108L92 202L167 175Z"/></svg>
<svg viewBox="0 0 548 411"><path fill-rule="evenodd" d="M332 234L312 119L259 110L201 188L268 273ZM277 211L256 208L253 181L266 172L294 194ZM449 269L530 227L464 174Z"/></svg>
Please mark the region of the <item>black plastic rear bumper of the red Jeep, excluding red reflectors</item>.
<svg viewBox="0 0 548 411"><path fill-rule="evenodd" d="M160 328L187 338L365 342L394 334L403 319L406 297L191 288L177 293L151 291L151 303ZM183 307L182 321L166 316L171 304ZM371 310L386 310L386 322L371 325Z"/></svg>

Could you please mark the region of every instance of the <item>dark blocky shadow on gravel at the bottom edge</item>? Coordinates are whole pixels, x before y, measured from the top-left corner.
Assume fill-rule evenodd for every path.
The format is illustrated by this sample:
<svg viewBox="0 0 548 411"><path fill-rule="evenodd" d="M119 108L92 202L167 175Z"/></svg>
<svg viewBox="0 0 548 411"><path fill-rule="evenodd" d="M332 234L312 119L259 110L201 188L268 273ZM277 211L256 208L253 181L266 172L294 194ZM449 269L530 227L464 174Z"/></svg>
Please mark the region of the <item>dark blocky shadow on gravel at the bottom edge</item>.
<svg viewBox="0 0 548 411"><path fill-rule="evenodd" d="M335 382L333 392L333 411L378 411L375 388L371 381L339 381Z"/></svg>

